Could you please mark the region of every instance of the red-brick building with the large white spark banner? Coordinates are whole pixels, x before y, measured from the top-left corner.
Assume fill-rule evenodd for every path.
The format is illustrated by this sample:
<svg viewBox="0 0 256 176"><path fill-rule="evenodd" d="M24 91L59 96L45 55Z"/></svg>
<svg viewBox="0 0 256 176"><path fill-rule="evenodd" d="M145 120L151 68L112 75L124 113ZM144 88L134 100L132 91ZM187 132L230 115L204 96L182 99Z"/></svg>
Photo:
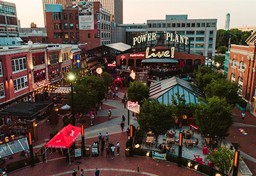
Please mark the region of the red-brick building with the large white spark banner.
<svg viewBox="0 0 256 176"><path fill-rule="evenodd" d="M60 4L45 4L48 43L87 43L86 49L111 44L111 13L101 8L99 2L78 4L65 9Z"/></svg>

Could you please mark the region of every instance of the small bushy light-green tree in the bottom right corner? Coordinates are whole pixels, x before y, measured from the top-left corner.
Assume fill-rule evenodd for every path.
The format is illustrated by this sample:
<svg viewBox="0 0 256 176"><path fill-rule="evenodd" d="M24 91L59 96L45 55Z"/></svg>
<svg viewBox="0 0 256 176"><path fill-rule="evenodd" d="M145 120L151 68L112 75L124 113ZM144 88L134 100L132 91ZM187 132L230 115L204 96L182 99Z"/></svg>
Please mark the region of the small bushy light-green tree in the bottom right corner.
<svg viewBox="0 0 256 176"><path fill-rule="evenodd" d="M234 156L234 152L229 148L220 147L218 150L212 150L211 154L207 156L207 159L211 163L214 163L220 172L229 175L233 169Z"/></svg>

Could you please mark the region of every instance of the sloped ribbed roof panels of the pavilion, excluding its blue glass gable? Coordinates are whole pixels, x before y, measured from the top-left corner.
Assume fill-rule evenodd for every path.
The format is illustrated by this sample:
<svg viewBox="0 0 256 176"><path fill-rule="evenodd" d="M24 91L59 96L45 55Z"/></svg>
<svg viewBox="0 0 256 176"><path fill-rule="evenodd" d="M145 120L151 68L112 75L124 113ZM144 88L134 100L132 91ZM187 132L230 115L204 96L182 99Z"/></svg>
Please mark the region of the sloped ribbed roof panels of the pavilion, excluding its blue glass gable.
<svg viewBox="0 0 256 176"><path fill-rule="evenodd" d="M170 79L164 79L163 81L151 84L149 90L149 99L158 99L159 97L164 95L164 93L175 88L175 86L180 86L182 89L186 90L195 97L205 98L204 93L195 84L189 83L188 81L184 81L179 77L174 76ZM176 92L179 92L179 90L175 92L173 91L173 94L175 94ZM179 94L182 95L184 93ZM169 99L170 98L172 97L169 97Z"/></svg>

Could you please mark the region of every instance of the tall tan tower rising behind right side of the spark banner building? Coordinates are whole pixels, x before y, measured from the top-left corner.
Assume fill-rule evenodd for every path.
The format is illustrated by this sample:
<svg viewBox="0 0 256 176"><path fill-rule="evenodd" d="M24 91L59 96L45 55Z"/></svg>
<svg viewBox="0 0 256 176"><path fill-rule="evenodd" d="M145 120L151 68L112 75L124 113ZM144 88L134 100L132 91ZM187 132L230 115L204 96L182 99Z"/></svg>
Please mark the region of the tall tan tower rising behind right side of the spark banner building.
<svg viewBox="0 0 256 176"><path fill-rule="evenodd" d="M123 24L123 0L88 0L100 1L102 8L108 10L111 15L111 22L115 24Z"/></svg>

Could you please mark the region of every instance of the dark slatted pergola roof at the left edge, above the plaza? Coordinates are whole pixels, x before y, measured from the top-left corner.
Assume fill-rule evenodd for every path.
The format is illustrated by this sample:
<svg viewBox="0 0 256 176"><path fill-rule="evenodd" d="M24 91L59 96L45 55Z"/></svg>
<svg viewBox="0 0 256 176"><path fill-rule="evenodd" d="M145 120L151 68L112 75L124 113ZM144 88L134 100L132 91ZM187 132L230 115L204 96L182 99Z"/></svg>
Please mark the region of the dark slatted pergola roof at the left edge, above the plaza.
<svg viewBox="0 0 256 176"><path fill-rule="evenodd" d="M33 118L40 111L52 106L53 102L19 102L14 106L0 111L0 116L19 116L23 118Z"/></svg>

